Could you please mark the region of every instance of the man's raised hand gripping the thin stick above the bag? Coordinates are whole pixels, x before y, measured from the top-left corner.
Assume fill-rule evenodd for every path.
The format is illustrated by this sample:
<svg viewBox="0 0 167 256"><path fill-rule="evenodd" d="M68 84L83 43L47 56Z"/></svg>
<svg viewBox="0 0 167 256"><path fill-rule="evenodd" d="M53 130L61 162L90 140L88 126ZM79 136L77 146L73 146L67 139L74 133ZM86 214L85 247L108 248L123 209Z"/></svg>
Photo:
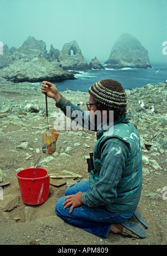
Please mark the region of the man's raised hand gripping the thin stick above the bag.
<svg viewBox="0 0 167 256"><path fill-rule="evenodd" d="M43 94L47 93L47 96L49 98L52 98L55 100L55 102L58 103L58 101L61 98L61 94L58 92L56 86L48 81L43 81L41 86L41 92Z"/></svg>

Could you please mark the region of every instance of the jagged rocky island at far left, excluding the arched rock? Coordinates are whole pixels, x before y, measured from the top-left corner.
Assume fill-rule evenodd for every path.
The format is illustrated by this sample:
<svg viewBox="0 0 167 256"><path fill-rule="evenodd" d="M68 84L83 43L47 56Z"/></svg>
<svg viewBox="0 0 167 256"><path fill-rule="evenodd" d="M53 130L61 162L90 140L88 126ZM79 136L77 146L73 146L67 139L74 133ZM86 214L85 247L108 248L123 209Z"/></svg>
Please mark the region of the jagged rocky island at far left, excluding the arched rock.
<svg viewBox="0 0 167 256"><path fill-rule="evenodd" d="M0 56L0 76L14 83L75 79L60 67L58 55L59 51L53 46L47 55L45 42L30 36L19 49L4 47L4 55Z"/></svg>

